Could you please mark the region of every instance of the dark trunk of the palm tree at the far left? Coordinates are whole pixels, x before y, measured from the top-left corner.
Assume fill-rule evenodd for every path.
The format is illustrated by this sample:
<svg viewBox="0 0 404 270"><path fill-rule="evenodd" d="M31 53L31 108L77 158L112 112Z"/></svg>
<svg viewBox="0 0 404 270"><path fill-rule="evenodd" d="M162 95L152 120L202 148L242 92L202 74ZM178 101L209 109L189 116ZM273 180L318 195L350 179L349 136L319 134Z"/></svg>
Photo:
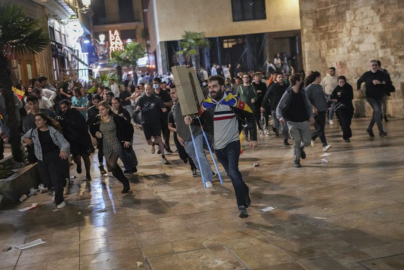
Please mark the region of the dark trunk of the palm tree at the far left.
<svg viewBox="0 0 404 270"><path fill-rule="evenodd" d="M3 90L2 96L4 97L5 111L7 114L5 124L10 132L8 142L11 144L11 154L15 161L22 162L23 152L21 151L21 133L18 130L20 121L15 115L14 94L11 90L11 72L8 68L7 59L3 57L0 57L0 85Z"/></svg>

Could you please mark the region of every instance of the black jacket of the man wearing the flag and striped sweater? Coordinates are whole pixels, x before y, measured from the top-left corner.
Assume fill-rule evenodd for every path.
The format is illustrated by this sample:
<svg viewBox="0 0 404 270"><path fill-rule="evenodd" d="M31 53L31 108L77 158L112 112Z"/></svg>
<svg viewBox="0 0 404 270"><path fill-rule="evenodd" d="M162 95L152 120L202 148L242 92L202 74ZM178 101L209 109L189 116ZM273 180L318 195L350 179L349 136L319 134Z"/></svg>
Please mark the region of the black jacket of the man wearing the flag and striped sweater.
<svg viewBox="0 0 404 270"><path fill-rule="evenodd" d="M255 116L253 113L249 113L247 111L230 107L230 110L235 114L237 117L238 122L238 133L241 133L241 130L244 125L248 125L248 129L250 132L250 140L256 141L256 124L255 124ZM213 138L214 138L214 128L213 128L213 116L214 116L214 108L215 106L207 109L202 113L199 117L201 124L206 132L207 140L209 141L209 145L213 145ZM194 119L196 120L196 119ZM198 121L193 121L193 125L200 125Z"/></svg>

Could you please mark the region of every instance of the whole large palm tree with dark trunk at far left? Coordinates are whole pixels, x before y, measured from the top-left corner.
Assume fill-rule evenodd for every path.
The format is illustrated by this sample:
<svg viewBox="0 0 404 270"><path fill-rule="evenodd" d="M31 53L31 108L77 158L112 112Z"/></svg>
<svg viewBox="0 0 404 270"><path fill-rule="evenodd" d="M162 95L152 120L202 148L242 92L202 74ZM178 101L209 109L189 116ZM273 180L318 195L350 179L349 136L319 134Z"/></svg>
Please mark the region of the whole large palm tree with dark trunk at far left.
<svg viewBox="0 0 404 270"><path fill-rule="evenodd" d="M9 143L15 161L21 162L19 119L16 119L11 69L7 56L17 53L37 54L50 42L49 34L40 27L40 20L31 20L22 6L4 4L0 6L0 86L7 112L6 125L10 130Z"/></svg>

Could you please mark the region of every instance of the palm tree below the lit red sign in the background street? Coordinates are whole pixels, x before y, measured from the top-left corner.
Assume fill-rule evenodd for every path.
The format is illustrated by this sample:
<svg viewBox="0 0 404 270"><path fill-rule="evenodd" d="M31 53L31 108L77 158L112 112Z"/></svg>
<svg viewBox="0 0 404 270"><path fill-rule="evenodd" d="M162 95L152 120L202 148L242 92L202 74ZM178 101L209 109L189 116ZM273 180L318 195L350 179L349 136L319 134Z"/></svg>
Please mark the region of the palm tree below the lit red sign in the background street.
<svg viewBox="0 0 404 270"><path fill-rule="evenodd" d="M111 52L111 58L108 60L108 63L116 65L116 75L119 82L122 81L122 67L131 67L133 74L135 74L136 61L142 58L145 52L144 45L138 42L125 44L123 45L123 50Z"/></svg>

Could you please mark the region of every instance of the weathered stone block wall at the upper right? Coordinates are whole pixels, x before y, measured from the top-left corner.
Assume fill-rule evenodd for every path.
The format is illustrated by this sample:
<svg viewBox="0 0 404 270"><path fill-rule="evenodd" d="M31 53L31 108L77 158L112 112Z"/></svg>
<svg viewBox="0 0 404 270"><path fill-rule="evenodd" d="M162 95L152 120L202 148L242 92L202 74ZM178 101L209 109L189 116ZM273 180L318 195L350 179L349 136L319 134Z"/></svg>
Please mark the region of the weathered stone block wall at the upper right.
<svg viewBox="0 0 404 270"><path fill-rule="evenodd" d="M303 65L306 74L326 75L335 67L356 90L371 59L388 70L396 91L387 99L387 115L404 117L404 0L299 0ZM356 92L356 91L355 91ZM371 109L355 93L355 116Z"/></svg>

